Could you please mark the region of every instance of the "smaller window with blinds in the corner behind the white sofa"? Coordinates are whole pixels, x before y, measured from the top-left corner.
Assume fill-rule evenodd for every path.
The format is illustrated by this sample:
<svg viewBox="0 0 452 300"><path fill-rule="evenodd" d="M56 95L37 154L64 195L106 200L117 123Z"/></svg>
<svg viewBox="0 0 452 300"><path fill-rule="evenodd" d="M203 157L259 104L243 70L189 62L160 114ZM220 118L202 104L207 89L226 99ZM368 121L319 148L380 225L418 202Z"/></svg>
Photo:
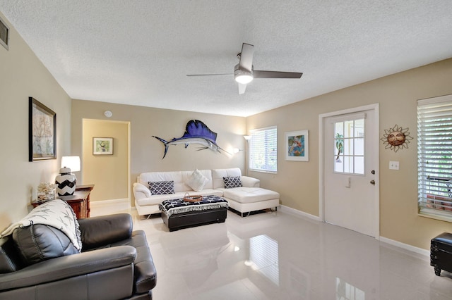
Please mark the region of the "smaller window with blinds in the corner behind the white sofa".
<svg viewBox="0 0 452 300"><path fill-rule="evenodd" d="M251 130L249 140L249 170L274 172L278 170L276 126Z"/></svg>

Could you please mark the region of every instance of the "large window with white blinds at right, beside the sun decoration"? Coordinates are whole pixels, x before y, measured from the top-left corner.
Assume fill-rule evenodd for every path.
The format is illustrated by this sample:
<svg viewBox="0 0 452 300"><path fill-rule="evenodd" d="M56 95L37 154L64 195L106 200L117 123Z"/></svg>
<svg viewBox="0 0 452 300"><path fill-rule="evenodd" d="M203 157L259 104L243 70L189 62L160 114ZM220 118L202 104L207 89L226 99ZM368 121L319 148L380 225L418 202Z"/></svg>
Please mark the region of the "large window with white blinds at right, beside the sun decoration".
<svg viewBox="0 0 452 300"><path fill-rule="evenodd" d="M452 221L452 95L417 101L418 205Z"/></svg>

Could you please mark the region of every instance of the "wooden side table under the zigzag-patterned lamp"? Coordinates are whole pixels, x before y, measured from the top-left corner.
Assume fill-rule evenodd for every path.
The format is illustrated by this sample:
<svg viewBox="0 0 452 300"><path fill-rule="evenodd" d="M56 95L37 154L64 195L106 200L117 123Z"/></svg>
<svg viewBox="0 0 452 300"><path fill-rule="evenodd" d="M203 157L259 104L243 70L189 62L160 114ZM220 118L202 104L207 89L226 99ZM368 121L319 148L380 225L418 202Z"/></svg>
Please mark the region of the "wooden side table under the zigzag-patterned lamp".
<svg viewBox="0 0 452 300"><path fill-rule="evenodd" d="M59 196L57 199L66 201L78 219L90 218L90 192L94 185L78 185L76 192L69 196ZM44 201L32 202L33 207L40 206Z"/></svg>

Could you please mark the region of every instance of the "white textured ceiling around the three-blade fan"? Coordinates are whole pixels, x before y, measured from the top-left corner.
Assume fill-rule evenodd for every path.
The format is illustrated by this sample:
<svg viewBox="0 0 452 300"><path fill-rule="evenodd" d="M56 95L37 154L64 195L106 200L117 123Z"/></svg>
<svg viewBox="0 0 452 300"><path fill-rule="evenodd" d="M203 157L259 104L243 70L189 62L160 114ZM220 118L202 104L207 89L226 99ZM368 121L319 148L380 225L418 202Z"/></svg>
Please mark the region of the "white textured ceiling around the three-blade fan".
<svg viewBox="0 0 452 300"><path fill-rule="evenodd" d="M71 98L184 111L253 115L452 57L451 0L0 0L0 11ZM242 95L232 76L186 77L233 73L243 42L256 70L304 75L255 79Z"/></svg>

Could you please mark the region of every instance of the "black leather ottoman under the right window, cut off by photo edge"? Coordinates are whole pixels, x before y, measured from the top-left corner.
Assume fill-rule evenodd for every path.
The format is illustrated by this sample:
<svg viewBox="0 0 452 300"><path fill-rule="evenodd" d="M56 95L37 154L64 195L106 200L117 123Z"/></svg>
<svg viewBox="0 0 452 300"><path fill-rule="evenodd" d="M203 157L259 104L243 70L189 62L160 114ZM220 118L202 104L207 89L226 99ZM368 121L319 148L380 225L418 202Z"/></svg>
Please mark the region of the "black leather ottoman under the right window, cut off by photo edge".
<svg viewBox="0 0 452 300"><path fill-rule="evenodd" d="M432 239L430 265L438 276L441 275L441 270L452 272L452 233L443 232Z"/></svg>

